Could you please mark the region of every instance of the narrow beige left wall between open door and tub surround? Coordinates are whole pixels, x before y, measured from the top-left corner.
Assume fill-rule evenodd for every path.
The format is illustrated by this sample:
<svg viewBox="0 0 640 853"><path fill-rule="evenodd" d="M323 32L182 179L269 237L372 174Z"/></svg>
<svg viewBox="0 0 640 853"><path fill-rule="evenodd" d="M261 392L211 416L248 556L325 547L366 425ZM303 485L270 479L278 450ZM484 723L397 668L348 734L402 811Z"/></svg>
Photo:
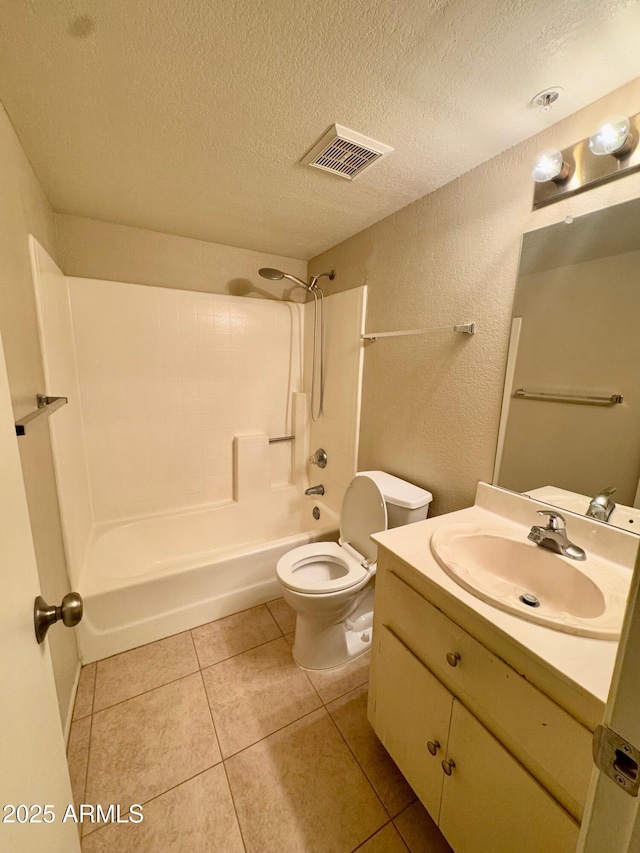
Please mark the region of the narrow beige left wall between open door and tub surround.
<svg viewBox="0 0 640 853"><path fill-rule="evenodd" d="M16 418L34 408L44 390L27 235L54 257L53 211L0 106L0 328ZM59 604L69 591L60 529L51 442L46 422L19 439L42 595ZM35 641L34 641L35 642ZM47 637L63 724L78 662L73 631L54 627Z"/></svg>

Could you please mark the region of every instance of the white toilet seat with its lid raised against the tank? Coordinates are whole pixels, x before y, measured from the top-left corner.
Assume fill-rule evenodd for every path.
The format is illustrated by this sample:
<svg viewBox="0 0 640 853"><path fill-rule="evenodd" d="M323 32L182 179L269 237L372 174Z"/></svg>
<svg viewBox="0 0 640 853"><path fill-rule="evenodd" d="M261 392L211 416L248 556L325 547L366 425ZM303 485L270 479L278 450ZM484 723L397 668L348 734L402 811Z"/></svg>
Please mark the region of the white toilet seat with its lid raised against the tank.
<svg viewBox="0 0 640 853"><path fill-rule="evenodd" d="M387 528L387 508L369 477L349 484L340 512L340 541L294 548L278 560L280 582L295 592L321 594L358 587L373 573L377 549L372 533Z"/></svg>

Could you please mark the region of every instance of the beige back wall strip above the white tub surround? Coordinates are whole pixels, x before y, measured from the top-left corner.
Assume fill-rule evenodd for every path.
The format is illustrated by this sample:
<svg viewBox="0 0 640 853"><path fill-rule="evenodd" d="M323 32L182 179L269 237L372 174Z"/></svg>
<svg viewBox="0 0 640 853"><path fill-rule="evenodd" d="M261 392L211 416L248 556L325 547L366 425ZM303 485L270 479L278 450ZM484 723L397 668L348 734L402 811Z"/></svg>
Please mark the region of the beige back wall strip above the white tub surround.
<svg viewBox="0 0 640 853"><path fill-rule="evenodd" d="M275 267L306 279L307 262L144 228L56 213L60 266L67 275L179 287L231 296L286 295L304 302L302 288L260 278Z"/></svg>

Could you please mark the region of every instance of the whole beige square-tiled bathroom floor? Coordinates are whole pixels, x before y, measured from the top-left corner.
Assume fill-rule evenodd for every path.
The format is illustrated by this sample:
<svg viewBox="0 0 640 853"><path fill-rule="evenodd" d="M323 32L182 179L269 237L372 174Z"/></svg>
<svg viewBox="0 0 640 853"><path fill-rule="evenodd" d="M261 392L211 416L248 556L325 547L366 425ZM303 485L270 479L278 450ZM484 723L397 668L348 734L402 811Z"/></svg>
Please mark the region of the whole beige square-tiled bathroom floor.
<svg viewBox="0 0 640 853"><path fill-rule="evenodd" d="M84 853L445 853L366 719L368 655L312 673L282 599L82 669L76 803L144 804L84 823Z"/></svg>

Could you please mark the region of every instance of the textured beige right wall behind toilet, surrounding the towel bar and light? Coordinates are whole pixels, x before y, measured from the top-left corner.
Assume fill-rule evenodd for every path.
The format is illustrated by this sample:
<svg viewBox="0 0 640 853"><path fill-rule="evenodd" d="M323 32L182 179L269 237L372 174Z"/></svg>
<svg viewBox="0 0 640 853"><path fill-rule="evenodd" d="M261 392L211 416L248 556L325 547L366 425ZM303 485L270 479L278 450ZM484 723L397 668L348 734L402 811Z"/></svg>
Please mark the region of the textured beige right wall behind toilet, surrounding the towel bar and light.
<svg viewBox="0 0 640 853"><path fill-rule="evenodd" d="M314 274L335 267L328 293L368 284L367 331L478 324L473 338L367 344L360 469L428 488L435 514L473 503L477 481L492 476L522 234L640 196L634 174L532 212L532 161L639 108L636 80L310 262ZM541 114L541 127L552 119Z"/></svg>

